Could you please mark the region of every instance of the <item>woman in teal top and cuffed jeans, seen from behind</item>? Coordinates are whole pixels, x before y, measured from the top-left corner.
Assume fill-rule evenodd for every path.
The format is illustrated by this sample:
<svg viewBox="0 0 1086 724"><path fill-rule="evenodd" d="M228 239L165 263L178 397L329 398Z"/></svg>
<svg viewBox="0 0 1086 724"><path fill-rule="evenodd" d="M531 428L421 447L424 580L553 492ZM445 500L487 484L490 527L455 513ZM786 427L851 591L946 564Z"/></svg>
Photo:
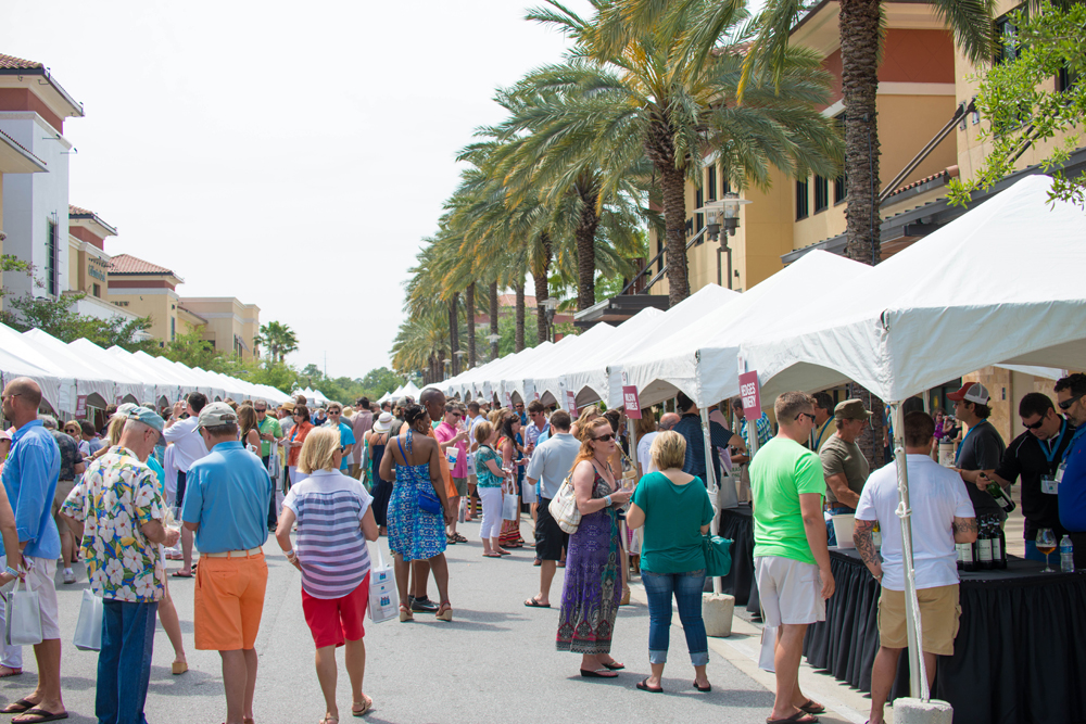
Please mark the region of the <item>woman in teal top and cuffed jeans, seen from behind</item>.
<svg viewBox="0 0 1086 724"><path fill-rule="evenodd" d="M702 536L712 522L712 504L700 479L682 471L686 440L665 430L649 449L658 472L641 479L633 494L627 525L644 525L641 544L641 580L648 594L648 663L651 676L637 684L643 691L664 690L660 677L668 660L671 631L671 598L679 604L679 619L686 635L686 648L694 664L694 688L709 691L705 668L709 644L702 620L702 590L705 586L705 554Z"/></svg>

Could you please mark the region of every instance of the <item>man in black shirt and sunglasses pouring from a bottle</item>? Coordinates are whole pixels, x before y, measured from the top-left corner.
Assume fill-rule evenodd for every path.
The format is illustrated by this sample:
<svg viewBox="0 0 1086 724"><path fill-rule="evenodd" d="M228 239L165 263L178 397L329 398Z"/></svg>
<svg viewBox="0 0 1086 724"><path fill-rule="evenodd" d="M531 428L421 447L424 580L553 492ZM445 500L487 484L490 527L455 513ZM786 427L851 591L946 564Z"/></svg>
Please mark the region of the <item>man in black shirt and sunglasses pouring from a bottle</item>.
<svg viewBox="0 0 1086 724"><path fill-rule="evenodd" d="M1056 470L1063 450L1071 444L1075 428L1056 412L1047 395L1031 392L1019 403L1019 416L1026 430L1011 441L995 470L986 478L1003 486L1022 479L1022 513L1025 516L1025 557L1044 561L1037 551L1037 529L1050 528L1060 541L1066 531L1060 525L1059 498L1056 495ZM984 485L984 479L978 481Z"/></svg>

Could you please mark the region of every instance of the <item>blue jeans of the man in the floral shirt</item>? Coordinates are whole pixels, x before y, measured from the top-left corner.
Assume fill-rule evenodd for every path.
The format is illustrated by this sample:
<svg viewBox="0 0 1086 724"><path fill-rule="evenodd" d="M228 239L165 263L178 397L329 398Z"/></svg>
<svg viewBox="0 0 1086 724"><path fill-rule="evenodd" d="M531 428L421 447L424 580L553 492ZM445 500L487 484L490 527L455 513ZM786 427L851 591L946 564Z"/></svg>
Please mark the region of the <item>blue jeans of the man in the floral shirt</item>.
<svg viewBox="0 0 1086 724"><path fill-rule="evenodd" d="M94 703L99 724L147 724L143 702L151 678L157 611L157 604L105 599Z"/></svg>

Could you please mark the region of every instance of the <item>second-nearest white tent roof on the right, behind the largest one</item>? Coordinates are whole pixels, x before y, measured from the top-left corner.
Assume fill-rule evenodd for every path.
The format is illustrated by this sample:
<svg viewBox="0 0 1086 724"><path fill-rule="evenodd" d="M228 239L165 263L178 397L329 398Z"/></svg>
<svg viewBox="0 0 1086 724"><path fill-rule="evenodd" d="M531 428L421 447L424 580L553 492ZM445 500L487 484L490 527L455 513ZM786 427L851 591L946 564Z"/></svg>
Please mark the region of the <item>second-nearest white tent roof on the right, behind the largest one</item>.
<svg viewBox="0 0 1086 724"><path fill-rule="evenodd" d="M675 390L682 390L698 407L732 397L738 394L740 344L767 329L791 328L796 297L790 290L811 289L812 280L847 287L870 269L829 252L806 254L727 304L657 338L622 366L628 384L637 386L643 405L666 399ZM818 314L824 314L822 305L815 306Z"/></svg>

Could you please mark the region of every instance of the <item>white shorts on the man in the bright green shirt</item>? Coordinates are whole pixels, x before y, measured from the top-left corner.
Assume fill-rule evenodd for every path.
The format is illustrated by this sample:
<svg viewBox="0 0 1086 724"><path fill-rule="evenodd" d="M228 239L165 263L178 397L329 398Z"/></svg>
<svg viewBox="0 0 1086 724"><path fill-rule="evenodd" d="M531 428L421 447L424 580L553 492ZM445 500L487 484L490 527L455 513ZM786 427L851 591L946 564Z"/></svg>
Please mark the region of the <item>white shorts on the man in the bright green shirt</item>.
<svg viewBox="0 0 1086 724"><path fill-rule="evenodd" d="M825 621L818 566L781 556L759 556L754 559L754 568L766 625Z"/></svg>

